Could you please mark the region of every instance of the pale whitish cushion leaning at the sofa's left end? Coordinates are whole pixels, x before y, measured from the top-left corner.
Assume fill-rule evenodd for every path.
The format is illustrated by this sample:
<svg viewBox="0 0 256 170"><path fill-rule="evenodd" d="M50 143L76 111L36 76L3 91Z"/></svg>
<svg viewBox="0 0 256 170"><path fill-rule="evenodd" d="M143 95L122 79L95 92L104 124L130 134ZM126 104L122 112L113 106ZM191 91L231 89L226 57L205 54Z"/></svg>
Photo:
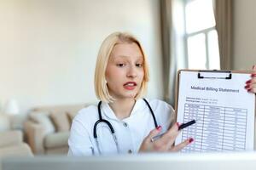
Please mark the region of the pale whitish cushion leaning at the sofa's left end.
<svg viewBox="0 0 256 170"><path fill-rule="evenodd" d="M49 119L49 112L32 111L31 114L29 115L29 117L33 122L42 124L44 126L45 133L54 133L55 132L55 127Z"/></svg>

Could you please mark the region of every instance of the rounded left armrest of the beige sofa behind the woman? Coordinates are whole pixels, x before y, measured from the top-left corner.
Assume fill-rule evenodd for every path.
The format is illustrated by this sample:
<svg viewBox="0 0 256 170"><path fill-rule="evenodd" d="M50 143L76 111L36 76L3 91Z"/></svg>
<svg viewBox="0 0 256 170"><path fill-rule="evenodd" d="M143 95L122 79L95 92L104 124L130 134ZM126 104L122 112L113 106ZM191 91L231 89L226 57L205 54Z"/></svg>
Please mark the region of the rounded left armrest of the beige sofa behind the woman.
<svg viewBox="0 0 256 170"><path fill-rule="evenodd" d="M32 121L24 123L27 143L30 145L34 154L44 154L44 126Z"/></svg>

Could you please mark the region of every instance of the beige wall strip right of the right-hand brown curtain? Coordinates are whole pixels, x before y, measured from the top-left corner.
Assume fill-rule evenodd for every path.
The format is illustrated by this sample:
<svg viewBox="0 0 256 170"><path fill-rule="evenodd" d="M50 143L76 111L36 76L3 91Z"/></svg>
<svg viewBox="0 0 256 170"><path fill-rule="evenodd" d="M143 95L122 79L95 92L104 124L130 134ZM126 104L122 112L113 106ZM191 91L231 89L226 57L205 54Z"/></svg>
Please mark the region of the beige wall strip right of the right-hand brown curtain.
<svg viewBox="0 0 256 170"><path fill-rule="evenodd" d="M256 1L234 1L234 63L237 70L256 65Z"/></svg>

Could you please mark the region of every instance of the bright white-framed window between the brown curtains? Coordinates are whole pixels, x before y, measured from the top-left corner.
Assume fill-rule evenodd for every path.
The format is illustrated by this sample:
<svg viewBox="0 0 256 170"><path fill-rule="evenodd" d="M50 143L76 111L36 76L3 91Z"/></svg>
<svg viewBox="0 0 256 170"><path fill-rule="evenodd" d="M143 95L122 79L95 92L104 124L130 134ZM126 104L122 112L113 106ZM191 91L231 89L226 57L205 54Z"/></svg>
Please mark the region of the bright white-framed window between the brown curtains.
<svg viewBox="0 0 256 170"><path fill-rule="evenodd" d="M184 0L189 69L220 69L212 0Z"/></svg>

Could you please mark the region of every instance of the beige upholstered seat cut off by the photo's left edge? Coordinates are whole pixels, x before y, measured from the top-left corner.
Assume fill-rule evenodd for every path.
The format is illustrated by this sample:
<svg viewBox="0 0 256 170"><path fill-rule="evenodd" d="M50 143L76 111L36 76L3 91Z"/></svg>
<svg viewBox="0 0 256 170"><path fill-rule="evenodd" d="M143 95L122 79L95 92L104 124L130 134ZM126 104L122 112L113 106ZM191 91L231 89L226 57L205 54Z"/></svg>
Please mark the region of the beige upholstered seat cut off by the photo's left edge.
<svg viewBox="0 0 256 170"><path fill-rule="evenodd" d="M23 133L12 130L0 133L0 157L32 156L32 150L23 142Z"/></svg>

